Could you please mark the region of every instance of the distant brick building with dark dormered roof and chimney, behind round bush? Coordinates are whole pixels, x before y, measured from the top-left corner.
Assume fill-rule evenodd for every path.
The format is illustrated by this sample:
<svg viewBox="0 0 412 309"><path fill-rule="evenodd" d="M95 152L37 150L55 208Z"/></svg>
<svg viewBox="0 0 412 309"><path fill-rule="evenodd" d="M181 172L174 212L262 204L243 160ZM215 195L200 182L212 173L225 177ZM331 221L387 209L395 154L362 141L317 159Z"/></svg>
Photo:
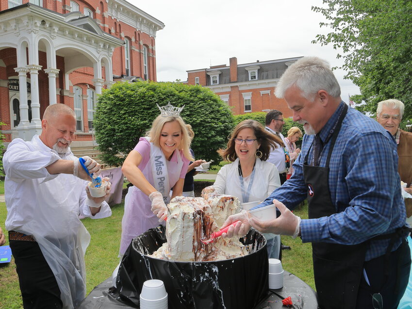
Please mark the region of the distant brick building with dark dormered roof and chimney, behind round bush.
<svg viewBox="0 0 412 309"><path fill-rule="evenodd" d="M286 101L276 98L275 87L287 67L299 58L238 65L236 57L232 57L229 66L214 65L187 71L186 83L210 88L232 107L233 114L276 109L283 113L283 117L291 117Z"/></svg>

